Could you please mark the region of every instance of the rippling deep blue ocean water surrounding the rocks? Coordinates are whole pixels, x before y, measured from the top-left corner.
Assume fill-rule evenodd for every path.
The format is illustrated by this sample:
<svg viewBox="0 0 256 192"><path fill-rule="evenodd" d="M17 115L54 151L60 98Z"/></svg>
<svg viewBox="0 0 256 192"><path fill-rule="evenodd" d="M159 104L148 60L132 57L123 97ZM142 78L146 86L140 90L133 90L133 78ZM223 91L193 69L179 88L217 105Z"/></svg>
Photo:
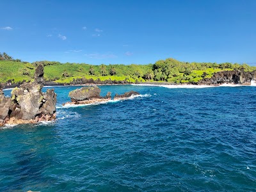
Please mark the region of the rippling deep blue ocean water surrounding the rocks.
<svg viewBox="0 0 256 192"><path fill-rule="evenodd" d="M75 88L55 87L56 122L0 128L0 191L256 191L256 87L61 108Z"/></svg>

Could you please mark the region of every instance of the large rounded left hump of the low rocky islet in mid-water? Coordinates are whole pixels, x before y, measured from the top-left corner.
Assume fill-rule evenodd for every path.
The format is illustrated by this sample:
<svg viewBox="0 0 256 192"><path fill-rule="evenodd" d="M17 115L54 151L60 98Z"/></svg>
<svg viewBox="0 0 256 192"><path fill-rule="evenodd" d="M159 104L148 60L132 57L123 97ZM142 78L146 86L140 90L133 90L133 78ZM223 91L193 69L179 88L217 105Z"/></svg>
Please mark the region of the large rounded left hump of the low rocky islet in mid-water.
<svg viewBox="0 0 256 192"><path fill-rule="evenodd" d="M85 86L83 88L73 90L68 94L71 102L67 102L65 104L92 104L111 99L111 92L108 92L105 97L101 97L100 92L101 90L98 86ZM63 104L63 106L65 104Z"/></svg>

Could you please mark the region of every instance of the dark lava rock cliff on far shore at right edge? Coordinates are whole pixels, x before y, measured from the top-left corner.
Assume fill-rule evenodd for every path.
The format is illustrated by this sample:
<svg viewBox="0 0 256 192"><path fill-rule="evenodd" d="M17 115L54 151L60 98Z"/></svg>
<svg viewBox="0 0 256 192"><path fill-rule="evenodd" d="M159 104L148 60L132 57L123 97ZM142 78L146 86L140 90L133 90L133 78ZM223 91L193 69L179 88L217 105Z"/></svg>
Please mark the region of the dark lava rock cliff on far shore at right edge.
<svg viewBox="0 0 256 192"><path fill-rule="evenodd" d="M215 73L211 78L205 78L198 84L218 85L223 83L250 85L256 79L256 72L244 72L243 70L227 70Z"/></svg>

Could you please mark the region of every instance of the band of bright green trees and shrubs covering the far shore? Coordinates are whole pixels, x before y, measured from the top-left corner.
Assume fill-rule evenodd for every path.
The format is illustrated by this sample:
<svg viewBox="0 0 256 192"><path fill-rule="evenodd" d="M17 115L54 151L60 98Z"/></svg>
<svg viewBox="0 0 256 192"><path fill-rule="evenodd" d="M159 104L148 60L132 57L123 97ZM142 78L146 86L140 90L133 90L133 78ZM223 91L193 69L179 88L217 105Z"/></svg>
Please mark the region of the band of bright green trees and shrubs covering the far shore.
<svg viewBox="0 0 256 192"><path fill-rule="evenodd" d="M56 83L70 83L74 79L100 79L100 81L128 81L131 83L158 81L170 83L196 83L221 70L253 71L256 67L237 63L186 63L168 58L148 65L89 65L85 63L60 63L36 61L34 63L13 60L0 53L0 82L21 83L31 81L35 68L44 65L45 79Z"/></svg>

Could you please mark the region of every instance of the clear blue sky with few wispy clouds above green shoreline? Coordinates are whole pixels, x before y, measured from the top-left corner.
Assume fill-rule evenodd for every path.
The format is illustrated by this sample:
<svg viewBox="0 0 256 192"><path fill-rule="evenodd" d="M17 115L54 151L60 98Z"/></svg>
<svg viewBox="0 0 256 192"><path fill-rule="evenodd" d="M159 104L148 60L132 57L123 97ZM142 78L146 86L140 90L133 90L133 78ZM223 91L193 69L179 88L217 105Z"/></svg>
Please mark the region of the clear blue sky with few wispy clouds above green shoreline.
<svg viewBox="0 0 256 192"><path fill-rule="evenodd" d="M255 0L3 0L0 52L30 62L255 65L255 10Z"/></svg>

